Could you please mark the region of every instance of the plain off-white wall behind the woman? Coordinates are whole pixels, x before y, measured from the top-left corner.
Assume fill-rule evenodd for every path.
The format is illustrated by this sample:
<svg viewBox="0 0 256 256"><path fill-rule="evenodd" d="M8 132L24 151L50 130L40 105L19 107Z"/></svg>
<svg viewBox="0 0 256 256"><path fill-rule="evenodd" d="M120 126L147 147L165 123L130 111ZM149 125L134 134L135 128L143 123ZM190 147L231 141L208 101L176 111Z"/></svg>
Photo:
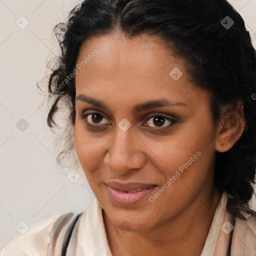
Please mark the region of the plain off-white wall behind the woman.
<svg viewBox="0 0 256 256"><path fill-rule="evenodd" d="M57 168L47 104L36 91L46 62L56 53L52 28L77 3L0 0L0 249L17 233L21 220L31 225L53 214L83 211L93 199L83 176L72 183ZM230 3L256 45L256 0ZM22 15L29 21L24 29L15 23L25 24ZM21 118L28 123L23 131L16 127Z"/></svg>

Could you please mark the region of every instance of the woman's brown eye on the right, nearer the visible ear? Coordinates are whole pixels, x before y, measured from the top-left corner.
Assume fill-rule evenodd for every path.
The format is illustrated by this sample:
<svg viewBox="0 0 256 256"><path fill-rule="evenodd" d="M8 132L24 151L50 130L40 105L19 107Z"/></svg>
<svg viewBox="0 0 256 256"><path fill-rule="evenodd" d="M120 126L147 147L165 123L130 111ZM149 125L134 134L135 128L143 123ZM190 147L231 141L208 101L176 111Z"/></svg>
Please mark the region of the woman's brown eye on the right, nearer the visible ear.
<svg viewBox="0 0 256 256"><path fill-rule="evenodd" d="M166 121L167 120L167 121ZM171 116L166 115L166 114L161 114L161 113L153 113L149 115L149 119L147 121L149 123L149 125L144 125L143 126L150 126L151 125L155 125L153 126L153 128L160 128L160 129L164 129L164 128L168 128L168 127L172 127L173 124L176 122L176 120L174 120ZM162 126L164 125L164 126Z"/></svg>

